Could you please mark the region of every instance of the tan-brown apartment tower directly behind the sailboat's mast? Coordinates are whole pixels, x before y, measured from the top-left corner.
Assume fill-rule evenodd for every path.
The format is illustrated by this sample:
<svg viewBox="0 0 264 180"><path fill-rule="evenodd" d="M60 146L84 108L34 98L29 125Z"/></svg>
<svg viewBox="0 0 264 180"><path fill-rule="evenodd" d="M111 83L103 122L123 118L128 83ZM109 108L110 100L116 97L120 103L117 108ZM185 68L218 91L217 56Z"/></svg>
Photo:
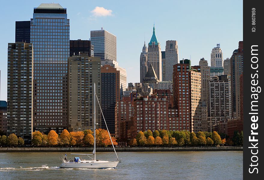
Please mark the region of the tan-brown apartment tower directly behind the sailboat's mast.
<svg viewBox="0 0 264 180"><path fill-rule="evenodd" d="M85 53L86 54L86 53ZM93 131L93 83L101 102L101 61L99 57L68 58L68 125L70 131ZM101 111L96 99L96 123L101 128Z"/></svg>

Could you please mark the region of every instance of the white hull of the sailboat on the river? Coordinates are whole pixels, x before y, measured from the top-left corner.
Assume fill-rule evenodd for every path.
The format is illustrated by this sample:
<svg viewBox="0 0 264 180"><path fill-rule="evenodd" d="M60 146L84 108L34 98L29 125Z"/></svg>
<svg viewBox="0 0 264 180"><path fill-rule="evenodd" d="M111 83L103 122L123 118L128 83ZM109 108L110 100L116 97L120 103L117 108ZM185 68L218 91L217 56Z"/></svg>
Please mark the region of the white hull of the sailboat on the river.
<svg viewBox="0 0 264 180"><path fill-rule="evenodd" d="M60 168L88 168L88 169L106 169L115 168L120 161L80 161L63 162Z"/></svg>

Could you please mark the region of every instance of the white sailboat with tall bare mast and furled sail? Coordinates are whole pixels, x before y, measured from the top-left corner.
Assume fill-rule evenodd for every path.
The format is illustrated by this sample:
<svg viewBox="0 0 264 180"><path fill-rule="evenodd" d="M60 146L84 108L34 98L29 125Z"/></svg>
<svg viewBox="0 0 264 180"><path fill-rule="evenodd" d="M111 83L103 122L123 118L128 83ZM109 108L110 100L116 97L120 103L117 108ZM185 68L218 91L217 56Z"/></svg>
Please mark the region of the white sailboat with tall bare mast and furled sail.
<svg viewBox="0 0 264 180"><path fill-rule="evenodd" d="M92 154L75 154L75 153L71 153L71 155L86 155L87 157L89 157L89 160L85 160L85 159L81 159L80 157L74 157L74 160L68 161L67 160L67 155L65 154L64 159L62 160L62 164L60 165L60 168L89 168L89 169L106 169L106 168L115 168L117 167L117 164L120 163L120 159L117 156L117 152L115 151L114 148L114 144L112 142L111 139L111 135L109 133L108 127L106 125L112 146L114 148L114 152L117 156L117 159L114 159L113 161L111 160L99 160L96 159L96 125L98 125L98 123L96 123L96 108L95 108L95 103L96 103L96 99L99 103L98 97L95 93L95 83L94 83L94 149L93 149L93 153ZM101 109L100 103L99 103L99 107ZM101 109L102 112L102 109ZM103 115L103 114L102 114ZM105 120L105 117L103 115L103 118Z"/></svg>

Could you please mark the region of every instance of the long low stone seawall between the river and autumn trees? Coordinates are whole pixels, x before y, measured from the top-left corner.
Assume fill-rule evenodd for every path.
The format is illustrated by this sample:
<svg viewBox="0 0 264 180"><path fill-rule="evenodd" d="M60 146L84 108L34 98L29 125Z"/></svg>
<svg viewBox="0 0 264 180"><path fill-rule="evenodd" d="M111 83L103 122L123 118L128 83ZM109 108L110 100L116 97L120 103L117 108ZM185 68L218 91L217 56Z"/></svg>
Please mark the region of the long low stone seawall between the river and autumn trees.
<svg viewBox="0 0 264 180"><path fill-rule="evenodd" d="M243 151L243 147L117 147L117 152L155 152L155 151ZM2 147L0 152L92 152L91 147ZM96 152L112 152L112 147L98 147Z"/></svg>

